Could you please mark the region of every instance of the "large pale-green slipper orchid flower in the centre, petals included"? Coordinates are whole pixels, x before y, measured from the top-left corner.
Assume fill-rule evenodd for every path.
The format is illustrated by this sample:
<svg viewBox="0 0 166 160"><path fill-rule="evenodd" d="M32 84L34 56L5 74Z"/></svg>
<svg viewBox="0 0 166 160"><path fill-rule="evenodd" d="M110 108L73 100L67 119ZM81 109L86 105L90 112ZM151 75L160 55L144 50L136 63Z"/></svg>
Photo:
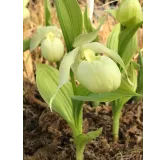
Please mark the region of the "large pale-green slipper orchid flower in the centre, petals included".
<svg viewBox="0 0 166 160"><path fill-rule="evenodd" d="M59 68L59 85L50 99L50 108L58 90L69 81L70 69L73 70L75 79L94 93L110 92L120 86L121 73L116 63L120 64L127 75L123 60L115 51L99 42L92 42L97 37L104 20L102 19L95 31L79 35L73 43L75 49L64 56ZM111 59L105 55L95 55L100 53Z"/></svg>

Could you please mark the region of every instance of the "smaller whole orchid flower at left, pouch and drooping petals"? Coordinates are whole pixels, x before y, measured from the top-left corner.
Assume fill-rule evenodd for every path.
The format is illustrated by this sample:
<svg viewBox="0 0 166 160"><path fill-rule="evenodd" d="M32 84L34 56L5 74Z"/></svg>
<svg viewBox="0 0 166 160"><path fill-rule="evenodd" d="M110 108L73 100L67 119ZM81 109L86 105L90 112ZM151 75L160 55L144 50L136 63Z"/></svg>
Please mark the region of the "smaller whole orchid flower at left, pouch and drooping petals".
<svg viewBox="0 0 166 160"><path fill-rule="evenodd" d="M64 45L60 39L62 33L56 26L39 27L31 39L30 50L41 44L41 53L50 62L58 62L64 54Z"/></svg>

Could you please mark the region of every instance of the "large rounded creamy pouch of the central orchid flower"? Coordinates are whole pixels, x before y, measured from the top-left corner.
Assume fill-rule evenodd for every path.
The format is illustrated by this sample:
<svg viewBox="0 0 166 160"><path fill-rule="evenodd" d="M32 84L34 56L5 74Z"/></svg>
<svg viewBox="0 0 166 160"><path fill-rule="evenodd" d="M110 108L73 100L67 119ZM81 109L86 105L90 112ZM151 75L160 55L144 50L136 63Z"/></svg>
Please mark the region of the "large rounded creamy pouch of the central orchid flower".
<svg viewBox="0 0 166 160"><path fill-rule="evenodd" d="M93 93L116 90L121 83L121 73L116 63L105 56L95 56L93 51L84 51L85 59L76 71L77 80Z"/></svg>

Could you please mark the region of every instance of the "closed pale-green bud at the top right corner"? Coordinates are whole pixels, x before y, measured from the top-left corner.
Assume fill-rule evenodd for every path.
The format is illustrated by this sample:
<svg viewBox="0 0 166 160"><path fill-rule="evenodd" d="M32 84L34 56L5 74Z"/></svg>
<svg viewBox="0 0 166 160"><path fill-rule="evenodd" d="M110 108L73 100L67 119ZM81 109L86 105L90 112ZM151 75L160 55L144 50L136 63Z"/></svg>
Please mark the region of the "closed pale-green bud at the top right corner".
<svg viewBox="0 0 166 160"><path fill-rule="evenodd" d="M143 12L138 0L122 0L116 13L117 20L130 27L143 20Z"/></svg>

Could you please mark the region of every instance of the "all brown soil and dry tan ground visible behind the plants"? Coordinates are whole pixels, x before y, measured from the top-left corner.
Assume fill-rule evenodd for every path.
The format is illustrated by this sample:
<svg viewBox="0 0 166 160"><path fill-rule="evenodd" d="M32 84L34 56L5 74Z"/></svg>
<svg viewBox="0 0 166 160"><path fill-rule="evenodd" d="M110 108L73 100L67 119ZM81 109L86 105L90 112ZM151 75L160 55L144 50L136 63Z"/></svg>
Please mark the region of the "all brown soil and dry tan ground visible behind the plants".
<svg viewBox="0 0 166 160"><path fill-rule="evenodd" d="M79 0L85 6L84 0ZM101 17L103 9L97 8L108 0L96 0L94 25ZM105 6L108 7L108 6ZM31 17L23 22L23 39L31 37L39 25L44 25L43 1L30 0L28 4ZM59 26L55 10L52 21ZM108 16L99 33L100 42L106 39L115 20ZM139 45L143 45L142 30ZM75 146L71 130L67 123L56 113L50 112L40 97L35 85L36 62L49 64L40 54L40 48L33 53L23 53L23 157L24 160L75 160ZM55 64L51 64L55 65ZM112 139L112 111L110 106L101 104L92 108L84 105L84 132L103 127L97 139L91 141L85 149L85 160L143 160L143 102L130 102L124 106L120 123L120 140L118 144Z"/></svg>

